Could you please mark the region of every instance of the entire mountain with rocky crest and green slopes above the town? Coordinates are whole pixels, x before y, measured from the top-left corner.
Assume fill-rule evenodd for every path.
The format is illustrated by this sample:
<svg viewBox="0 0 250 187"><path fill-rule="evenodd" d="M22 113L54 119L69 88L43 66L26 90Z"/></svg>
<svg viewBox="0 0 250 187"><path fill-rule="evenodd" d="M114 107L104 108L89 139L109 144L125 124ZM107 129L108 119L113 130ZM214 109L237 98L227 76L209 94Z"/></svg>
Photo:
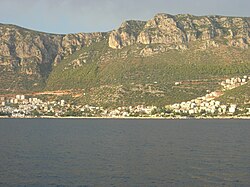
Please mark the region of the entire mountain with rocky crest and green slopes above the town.
<svg viewBox="0 0 250 187"><path fill-rule="evenodd" d="M164 105L249 74L249 36L250 18L188 14L125 21L107 33L0 25L1 89L81 89L74 100L85 104Z"/></svg>

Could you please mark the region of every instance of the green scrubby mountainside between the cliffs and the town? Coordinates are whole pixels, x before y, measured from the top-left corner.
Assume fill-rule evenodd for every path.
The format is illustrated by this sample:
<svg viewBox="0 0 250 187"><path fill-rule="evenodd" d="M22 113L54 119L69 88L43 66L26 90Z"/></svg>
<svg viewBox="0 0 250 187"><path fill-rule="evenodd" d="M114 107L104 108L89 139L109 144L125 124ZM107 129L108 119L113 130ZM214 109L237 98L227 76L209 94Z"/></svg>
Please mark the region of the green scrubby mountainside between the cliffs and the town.
<svg viewBox="0 0 250 187"><path fill-rule="evenodd" d="M46 89L83 89L80 97L72 98L82 104L164 106L216 90L220 88L218 82L227 77L250 73L249 50L195 50L199 45L196 42L186 51L143 57L139 54L145 45L113 50L107 47L107 41L95 43L54 67ZM74 67L72 62L83 61L83 56L84 63ZM183 84L175 86L177 81Z"/></svg>

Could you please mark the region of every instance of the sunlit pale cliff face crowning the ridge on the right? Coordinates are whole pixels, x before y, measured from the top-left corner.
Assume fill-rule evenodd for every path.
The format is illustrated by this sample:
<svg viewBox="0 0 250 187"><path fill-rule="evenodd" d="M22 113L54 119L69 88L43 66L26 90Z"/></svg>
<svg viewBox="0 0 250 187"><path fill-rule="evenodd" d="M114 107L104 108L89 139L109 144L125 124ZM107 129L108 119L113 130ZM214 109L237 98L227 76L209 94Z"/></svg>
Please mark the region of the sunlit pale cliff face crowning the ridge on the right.
<svg viewBox="0 0 250 187"><path fill-rule="evenodd" d="M192 41L223 39L227 45L247 48L250 42L250 21L248 18L224 16L192 16L157 14L147 22L140 22L139 29L131 34L131 25L126 22L111 32L109 46L120 49L124 46L141 44L165 44L183 49ZM139 22L137 22L139 23ZM143 27L143 28L142 28ZM125 29L124 29L125 28ZM178 47L179 46L179 47Z"/></svg>

